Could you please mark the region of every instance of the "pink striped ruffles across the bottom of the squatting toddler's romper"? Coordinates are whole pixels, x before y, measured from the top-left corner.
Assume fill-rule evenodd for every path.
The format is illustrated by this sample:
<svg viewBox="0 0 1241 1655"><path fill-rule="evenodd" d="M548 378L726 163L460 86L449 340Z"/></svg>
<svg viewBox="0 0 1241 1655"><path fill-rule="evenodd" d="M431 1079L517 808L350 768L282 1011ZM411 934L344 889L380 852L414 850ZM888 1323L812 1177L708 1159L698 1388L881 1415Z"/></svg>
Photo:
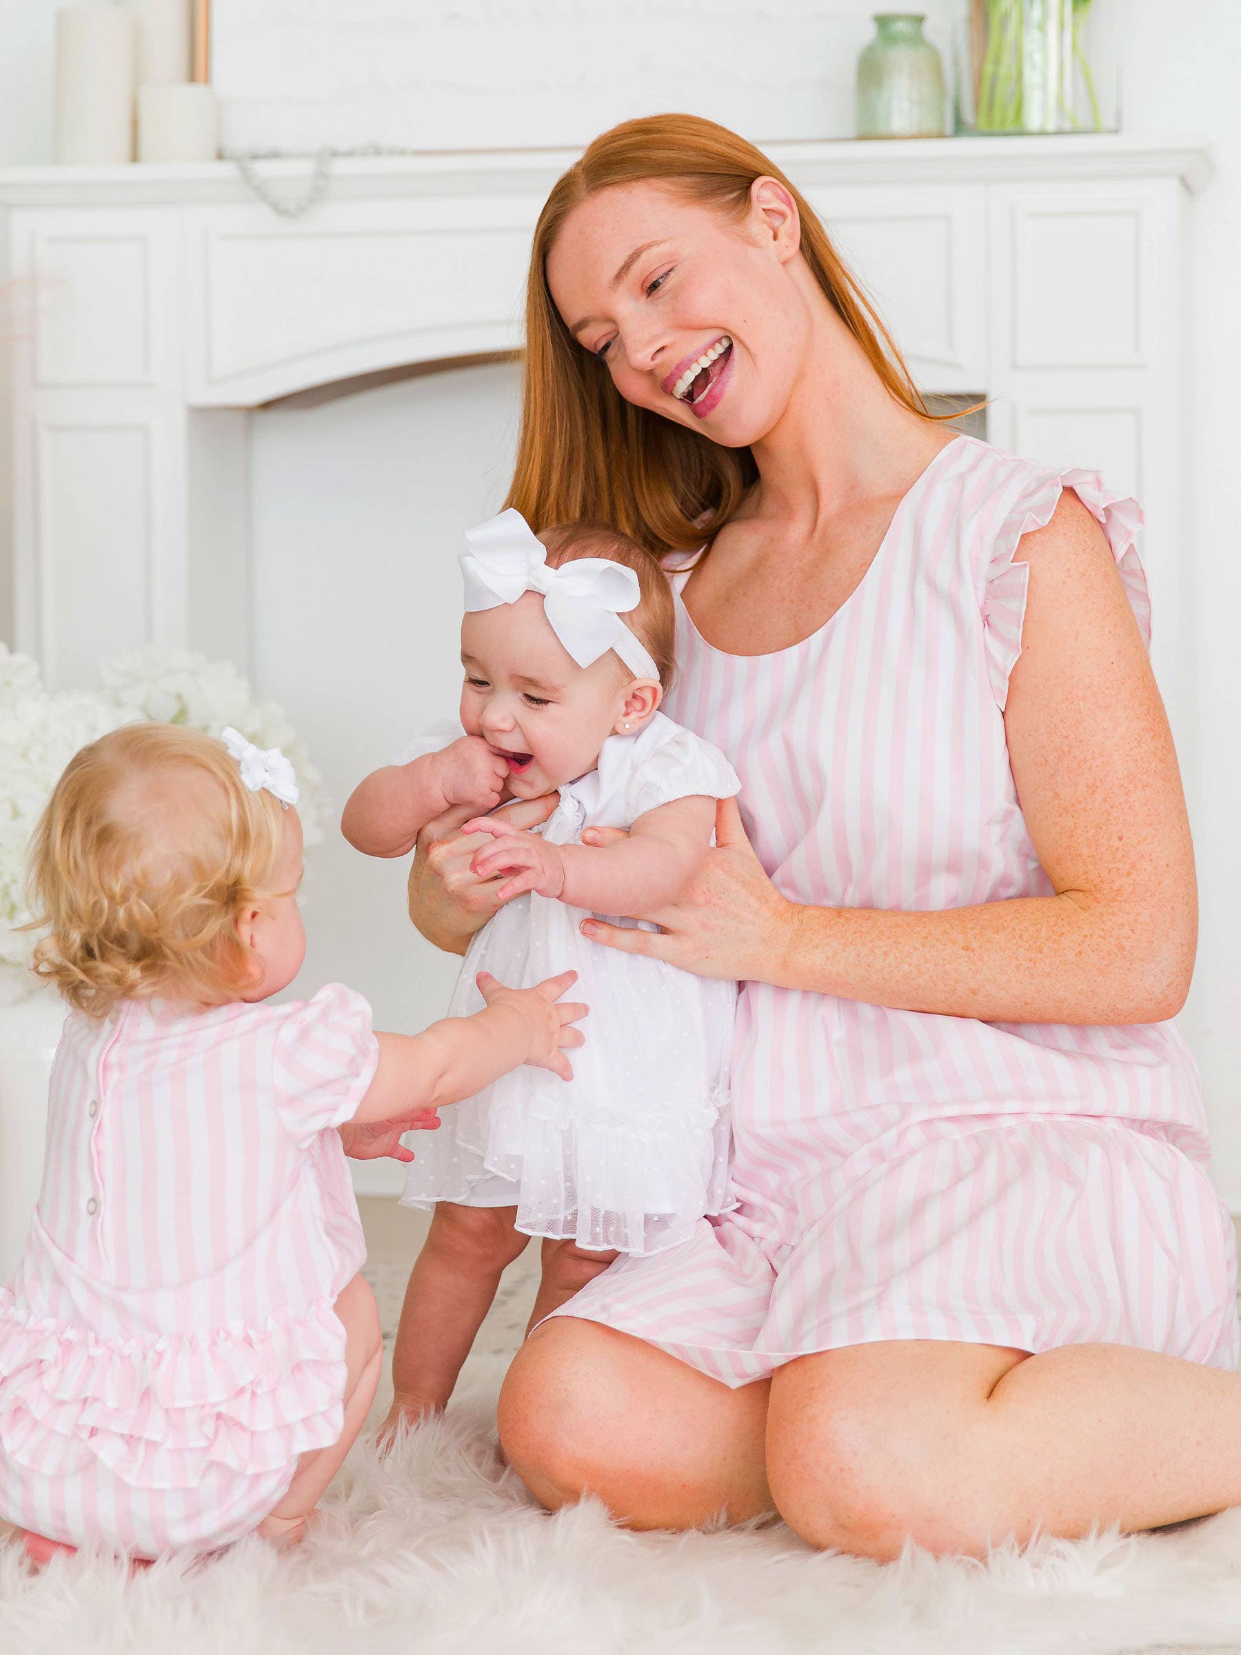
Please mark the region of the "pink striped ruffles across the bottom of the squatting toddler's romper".
<svg viewBox="0 0 1241 1655"><path fill-rule="evenodd" d="M0 1289L0 1443L50 1476L99 1460L132 1488L273 1471L341 1435L344 1327L323 1299L263 1327L108 1341Z"/></svg>

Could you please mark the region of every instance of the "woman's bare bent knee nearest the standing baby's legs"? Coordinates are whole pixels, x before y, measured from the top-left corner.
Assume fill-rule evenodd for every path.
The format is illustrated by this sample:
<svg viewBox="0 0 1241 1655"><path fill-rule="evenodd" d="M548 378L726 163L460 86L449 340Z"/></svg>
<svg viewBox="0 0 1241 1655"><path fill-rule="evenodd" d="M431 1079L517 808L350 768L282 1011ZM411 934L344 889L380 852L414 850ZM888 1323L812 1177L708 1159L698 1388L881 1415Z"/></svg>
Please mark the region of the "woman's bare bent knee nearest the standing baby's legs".
<svg viewBox="0 0 1241 1655"><path fill-rule="evenodd" d="M766 1405L766 1380L730 1390L642 1339L558 1316L513 1359L500 1442L549 1509L591 1493L637 1529L740 1523L771 1509Z"/></svg>

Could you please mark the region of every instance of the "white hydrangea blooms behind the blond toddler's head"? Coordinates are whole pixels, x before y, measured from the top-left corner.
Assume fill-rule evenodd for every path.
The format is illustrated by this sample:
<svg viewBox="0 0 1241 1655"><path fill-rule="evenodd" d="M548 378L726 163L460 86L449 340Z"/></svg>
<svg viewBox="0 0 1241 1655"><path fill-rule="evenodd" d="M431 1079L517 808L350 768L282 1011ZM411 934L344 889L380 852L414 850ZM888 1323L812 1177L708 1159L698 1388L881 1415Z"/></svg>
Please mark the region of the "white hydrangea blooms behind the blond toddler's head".
<svg viewBox="0 0 1241 1655"><path fill-rule="evenodd" d="M0 644L0 1005L36 990L26 970L35 937L25 897L26 847L60 773L88 741L152 720L218 735L233 725L256 746L280 746L298 773L306 844L323 839L323 776L276 702L255 700L227 660L149 645L111 655L94 690L48 693L38 664Z"/></svg>

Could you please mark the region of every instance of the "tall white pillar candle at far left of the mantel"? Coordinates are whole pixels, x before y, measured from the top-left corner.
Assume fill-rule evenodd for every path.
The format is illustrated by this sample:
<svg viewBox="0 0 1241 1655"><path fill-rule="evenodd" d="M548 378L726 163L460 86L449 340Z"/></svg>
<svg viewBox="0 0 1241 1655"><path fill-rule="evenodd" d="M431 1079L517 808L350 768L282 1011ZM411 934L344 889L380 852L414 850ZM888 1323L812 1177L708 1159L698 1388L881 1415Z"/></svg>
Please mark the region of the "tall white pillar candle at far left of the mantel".
<svg viewBox="0 0 1241 1655"><path fill-rule="evenodd" d="M134 17L119 5L56 12L56 161L134 159Z"/></svg>

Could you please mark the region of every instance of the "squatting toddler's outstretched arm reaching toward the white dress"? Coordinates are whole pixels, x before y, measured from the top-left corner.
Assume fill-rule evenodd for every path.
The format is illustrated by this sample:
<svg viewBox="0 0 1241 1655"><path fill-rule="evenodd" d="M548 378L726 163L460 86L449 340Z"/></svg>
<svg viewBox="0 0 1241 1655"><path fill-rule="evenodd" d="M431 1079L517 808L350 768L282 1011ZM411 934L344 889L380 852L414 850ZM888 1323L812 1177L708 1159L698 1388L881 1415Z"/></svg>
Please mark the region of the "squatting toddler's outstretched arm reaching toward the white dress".
<svg viewBox="0 0 1241 1655"><path fill-rule="evenodd" d="M379 1066L354 1125L458 1104L523 1063L573 1079L564 1049L584 1044L586 1036L573 1024L586 1016L586 1006L559 996L576 978L576 971L563 971L534 988L505 988L480 971L483 1011L442 1018L420 1034L376 1033Z"/></svg>

